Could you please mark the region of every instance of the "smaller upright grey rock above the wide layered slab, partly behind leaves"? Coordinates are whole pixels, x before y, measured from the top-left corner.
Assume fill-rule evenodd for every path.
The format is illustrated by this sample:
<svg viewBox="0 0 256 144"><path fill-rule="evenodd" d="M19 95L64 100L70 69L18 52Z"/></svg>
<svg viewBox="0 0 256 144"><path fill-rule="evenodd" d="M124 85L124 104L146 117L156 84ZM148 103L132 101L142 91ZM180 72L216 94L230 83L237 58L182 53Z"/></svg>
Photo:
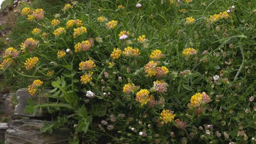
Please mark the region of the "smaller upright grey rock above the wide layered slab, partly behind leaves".
<svg viewBox="0 0 256 144"><path fill-rule="evenodd" d="M45 97L42 94L38 94L38 95L33 95L31 96L30 93L28 93L27 89L23 88L23 89L19 89L17 91L17 99L19 101L18 105L15 106L14 109L14 115L20 115L20 116L26 116L26 117L45 117L47 116L47 111L42 111L39 112L40 109L36 109L36 113L34 114L30 114L30 113L26 113L26 106L28 104L28 99L32 98L32 100L34 101L34 104L38 104L38 103L46 103L47 101L47 97Z"/></svg>

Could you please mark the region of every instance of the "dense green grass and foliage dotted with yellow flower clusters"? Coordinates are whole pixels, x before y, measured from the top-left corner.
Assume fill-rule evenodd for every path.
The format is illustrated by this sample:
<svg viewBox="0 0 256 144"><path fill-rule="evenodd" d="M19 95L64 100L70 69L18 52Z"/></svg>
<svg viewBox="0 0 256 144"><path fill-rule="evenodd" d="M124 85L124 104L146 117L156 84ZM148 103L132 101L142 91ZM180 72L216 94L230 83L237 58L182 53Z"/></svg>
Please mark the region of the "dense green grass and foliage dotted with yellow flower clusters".
<svg viewBox="0 0 256 144"><path fill-rule="evenodd" d="M9 46L24 52L2 68L14 89L53 88L27 107L58 112L43 132L72 127L69 143L255 142L254 1L42 2L31 9L49 8L43 19L18 17Z"/></svg>

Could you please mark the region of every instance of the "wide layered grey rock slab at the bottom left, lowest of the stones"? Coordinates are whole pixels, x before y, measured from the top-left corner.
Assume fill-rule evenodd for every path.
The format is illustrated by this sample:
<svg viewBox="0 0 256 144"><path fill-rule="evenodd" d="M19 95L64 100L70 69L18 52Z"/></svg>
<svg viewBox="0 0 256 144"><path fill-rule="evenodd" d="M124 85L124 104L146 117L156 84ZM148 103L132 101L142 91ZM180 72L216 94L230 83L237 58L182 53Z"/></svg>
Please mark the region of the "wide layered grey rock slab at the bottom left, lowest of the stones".
<svg viewBox="0 0 256 144"><path fill-rule="evenodd" d="M70 136L68 128L53 129L52 134L47 134L40 132L43 125L44 121L41 120L14 120L13 125L10 125L5 133L5 144L68 143L68 137Z"/></svg>

